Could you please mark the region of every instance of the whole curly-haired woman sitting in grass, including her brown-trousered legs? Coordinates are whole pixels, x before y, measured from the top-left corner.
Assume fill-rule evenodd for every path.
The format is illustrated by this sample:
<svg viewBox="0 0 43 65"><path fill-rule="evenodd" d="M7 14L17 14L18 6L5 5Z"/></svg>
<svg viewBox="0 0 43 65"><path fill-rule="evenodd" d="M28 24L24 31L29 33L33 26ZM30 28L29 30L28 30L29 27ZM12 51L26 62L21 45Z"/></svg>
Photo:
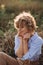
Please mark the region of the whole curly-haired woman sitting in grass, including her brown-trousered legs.
<svg viewBox="0 0 43 65"><path fill-rule="evenodd" d="M35 32L37 26L34 17L30 13L22 12L14 19L14 26L17 29L14 47L17 59L0 53L0 59L5 62L1 64L4 62L0 61L0 65L38 65L43 39Z"/></svg>

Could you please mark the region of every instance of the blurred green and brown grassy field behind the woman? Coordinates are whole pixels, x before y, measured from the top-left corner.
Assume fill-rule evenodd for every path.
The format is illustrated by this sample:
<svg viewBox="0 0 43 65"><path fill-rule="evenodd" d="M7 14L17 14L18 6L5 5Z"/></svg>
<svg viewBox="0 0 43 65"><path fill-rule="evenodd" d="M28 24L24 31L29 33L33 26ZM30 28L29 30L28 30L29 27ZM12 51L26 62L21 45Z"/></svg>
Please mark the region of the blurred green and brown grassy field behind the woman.
<svg viewBox="0 0 43 65"><path fill-rule="evenodd" d="M31 12L35 17L38 34L43 38L43 0L0 0L0 51L14 55L14 21L20 12Z"/></svg>

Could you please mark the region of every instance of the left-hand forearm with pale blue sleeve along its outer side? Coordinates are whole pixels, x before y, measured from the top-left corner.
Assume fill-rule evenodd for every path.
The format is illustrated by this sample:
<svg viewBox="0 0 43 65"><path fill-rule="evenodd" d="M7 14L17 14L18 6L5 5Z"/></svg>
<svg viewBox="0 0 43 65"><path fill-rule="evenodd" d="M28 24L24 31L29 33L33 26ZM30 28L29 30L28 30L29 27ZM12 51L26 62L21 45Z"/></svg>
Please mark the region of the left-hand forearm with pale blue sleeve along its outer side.
<svg viewBox="0 0 43 65"><path fill-rule="evenodd" d="M15 38L15 54L18 57L23 55L22 37L19 37L19 39Z"/></svg>

